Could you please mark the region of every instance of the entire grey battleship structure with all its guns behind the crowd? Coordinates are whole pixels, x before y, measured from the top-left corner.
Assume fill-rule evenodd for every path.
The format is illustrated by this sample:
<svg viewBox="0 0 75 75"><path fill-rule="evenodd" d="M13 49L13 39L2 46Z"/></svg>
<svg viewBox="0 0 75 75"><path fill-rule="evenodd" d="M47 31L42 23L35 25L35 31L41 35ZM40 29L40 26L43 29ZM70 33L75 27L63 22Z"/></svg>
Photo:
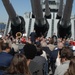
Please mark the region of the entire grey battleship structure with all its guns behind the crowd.
<svg viewBox="0 0 75 75"><path fill-rule="evenodd" d="M65 7L64 0L31 0L32 12L25 14L24 19L16 14L9 0L2 1L11 20L11 32L14 36L16 32L25 32L24 19L28 36L33 30L37 36L44 37L51 37L53 33L62 38L75 36L75 22L71 19L73 0L66 0Z"/></svg>

